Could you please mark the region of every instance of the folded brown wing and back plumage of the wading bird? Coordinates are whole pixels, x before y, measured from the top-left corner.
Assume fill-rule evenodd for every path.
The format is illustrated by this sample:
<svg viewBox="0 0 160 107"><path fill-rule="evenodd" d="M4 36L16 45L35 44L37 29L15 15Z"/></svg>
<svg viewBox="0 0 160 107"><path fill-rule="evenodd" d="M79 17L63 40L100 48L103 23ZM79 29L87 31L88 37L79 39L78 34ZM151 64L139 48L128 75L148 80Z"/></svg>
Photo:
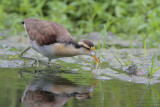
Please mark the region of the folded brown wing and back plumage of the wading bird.
<svg viewBox="0 0 160 107"><path fill-rule="evenodd" d="M40 19L25 19L24 24L30 40L35 40L41 46L73 41L67 29L55 22Z"/></svg>

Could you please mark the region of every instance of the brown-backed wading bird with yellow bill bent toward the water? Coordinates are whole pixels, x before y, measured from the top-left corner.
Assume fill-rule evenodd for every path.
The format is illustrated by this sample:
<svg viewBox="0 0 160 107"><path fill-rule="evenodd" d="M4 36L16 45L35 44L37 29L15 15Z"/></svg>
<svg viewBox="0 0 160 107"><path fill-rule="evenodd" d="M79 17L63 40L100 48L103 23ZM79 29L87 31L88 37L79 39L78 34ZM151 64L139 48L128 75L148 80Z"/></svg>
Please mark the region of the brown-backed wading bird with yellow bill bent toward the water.
<svg viewBox="0 0 160 107"><path fill-rule="evenodd" d="M29 46L24 49L20 56L30 48L36 50L48 58L72 57L76 55L89 55L100 64L95 56L95 46L90 40L73 40L69 31L62 25L47 20L26 18L21 22L27 32Z"/></svg>

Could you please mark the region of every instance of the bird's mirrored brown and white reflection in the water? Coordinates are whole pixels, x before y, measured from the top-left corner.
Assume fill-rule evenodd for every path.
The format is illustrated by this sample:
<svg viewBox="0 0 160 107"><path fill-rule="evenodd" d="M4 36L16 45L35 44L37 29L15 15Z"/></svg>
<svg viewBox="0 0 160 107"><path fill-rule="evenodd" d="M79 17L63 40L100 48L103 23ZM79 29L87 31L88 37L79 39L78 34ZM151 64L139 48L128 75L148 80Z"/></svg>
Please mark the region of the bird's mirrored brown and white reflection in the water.
<svg viewBox="0 0 160 107"><path fill-rule="evenodd" d="M61 76L40 76L26 87L22 104L25 107L61 107L71 97L92 98L95 86L80 86Z"/></svg>

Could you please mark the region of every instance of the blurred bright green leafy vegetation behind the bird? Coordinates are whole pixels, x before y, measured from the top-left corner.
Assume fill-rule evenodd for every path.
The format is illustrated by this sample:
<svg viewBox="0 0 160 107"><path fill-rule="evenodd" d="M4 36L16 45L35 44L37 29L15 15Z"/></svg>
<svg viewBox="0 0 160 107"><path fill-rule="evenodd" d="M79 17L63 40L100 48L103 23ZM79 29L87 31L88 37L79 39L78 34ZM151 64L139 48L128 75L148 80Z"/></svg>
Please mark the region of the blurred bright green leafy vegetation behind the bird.
<svg viewBox="0 0 160 107"><path fill-rule="evenodd" d="M0 32L24 31L24 18L55 21L72 35L105 29L147 48L160 42L160 0L0 0Z"/></svg>

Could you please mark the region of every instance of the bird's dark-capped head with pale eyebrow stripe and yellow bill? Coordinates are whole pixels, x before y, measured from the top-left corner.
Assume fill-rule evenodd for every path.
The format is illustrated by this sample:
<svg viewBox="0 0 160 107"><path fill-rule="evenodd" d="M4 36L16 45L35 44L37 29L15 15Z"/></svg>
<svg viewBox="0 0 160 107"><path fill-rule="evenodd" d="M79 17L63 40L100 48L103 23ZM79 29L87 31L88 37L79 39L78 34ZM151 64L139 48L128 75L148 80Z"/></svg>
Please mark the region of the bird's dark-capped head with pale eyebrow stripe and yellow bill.
<svg viewBox="0 0 160 107"><path fill-rule="evenodd" d="M83 47L83 51L87 54L87 55L90 55L92 56L96 62L98 64L100 64L99 60L96 58L95 56L95 47L94 47L94 44L89 41L89 40L82 40L80 42L78 42L78 45L80 45L81 47Z"/></svg>

